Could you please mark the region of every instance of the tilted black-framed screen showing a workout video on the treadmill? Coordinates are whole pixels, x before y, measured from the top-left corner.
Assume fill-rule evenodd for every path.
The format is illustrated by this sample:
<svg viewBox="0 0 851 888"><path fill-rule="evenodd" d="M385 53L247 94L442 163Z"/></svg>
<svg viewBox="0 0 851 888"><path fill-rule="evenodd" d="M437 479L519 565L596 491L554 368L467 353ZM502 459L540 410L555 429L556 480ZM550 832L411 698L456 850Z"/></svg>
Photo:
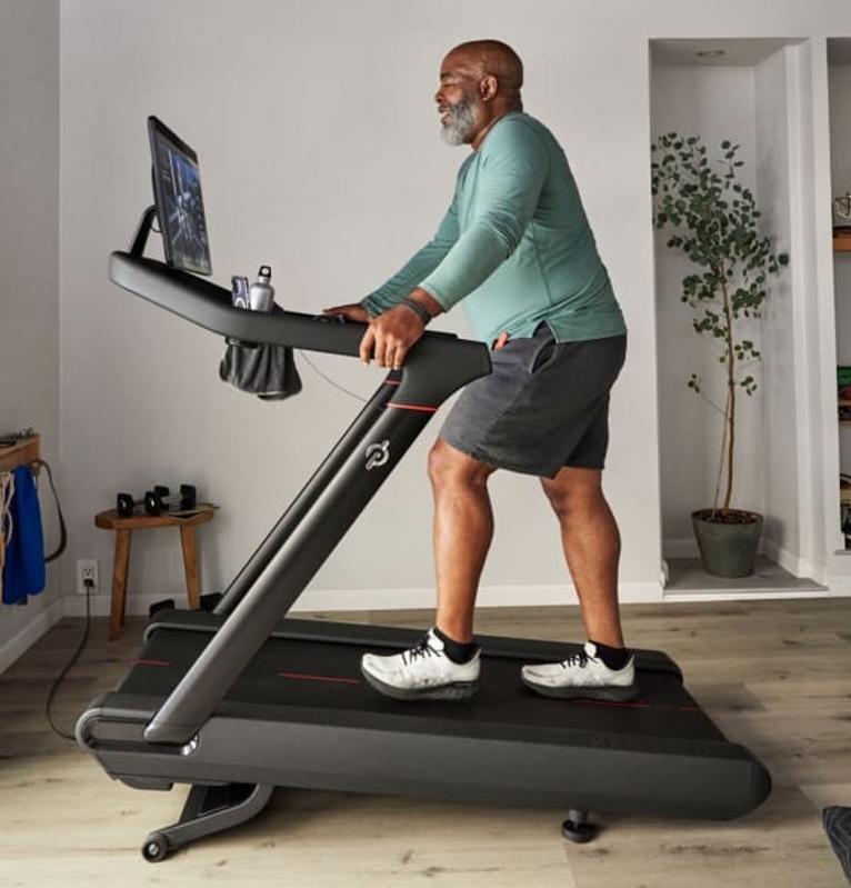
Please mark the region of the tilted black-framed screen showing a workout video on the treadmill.
<svg viewBox="0 0 851 888"><path fill-rule="evenodd" d="M156 117L148 118L148 132L166 261L183 271L210 275L198 156Z"/></svg>

